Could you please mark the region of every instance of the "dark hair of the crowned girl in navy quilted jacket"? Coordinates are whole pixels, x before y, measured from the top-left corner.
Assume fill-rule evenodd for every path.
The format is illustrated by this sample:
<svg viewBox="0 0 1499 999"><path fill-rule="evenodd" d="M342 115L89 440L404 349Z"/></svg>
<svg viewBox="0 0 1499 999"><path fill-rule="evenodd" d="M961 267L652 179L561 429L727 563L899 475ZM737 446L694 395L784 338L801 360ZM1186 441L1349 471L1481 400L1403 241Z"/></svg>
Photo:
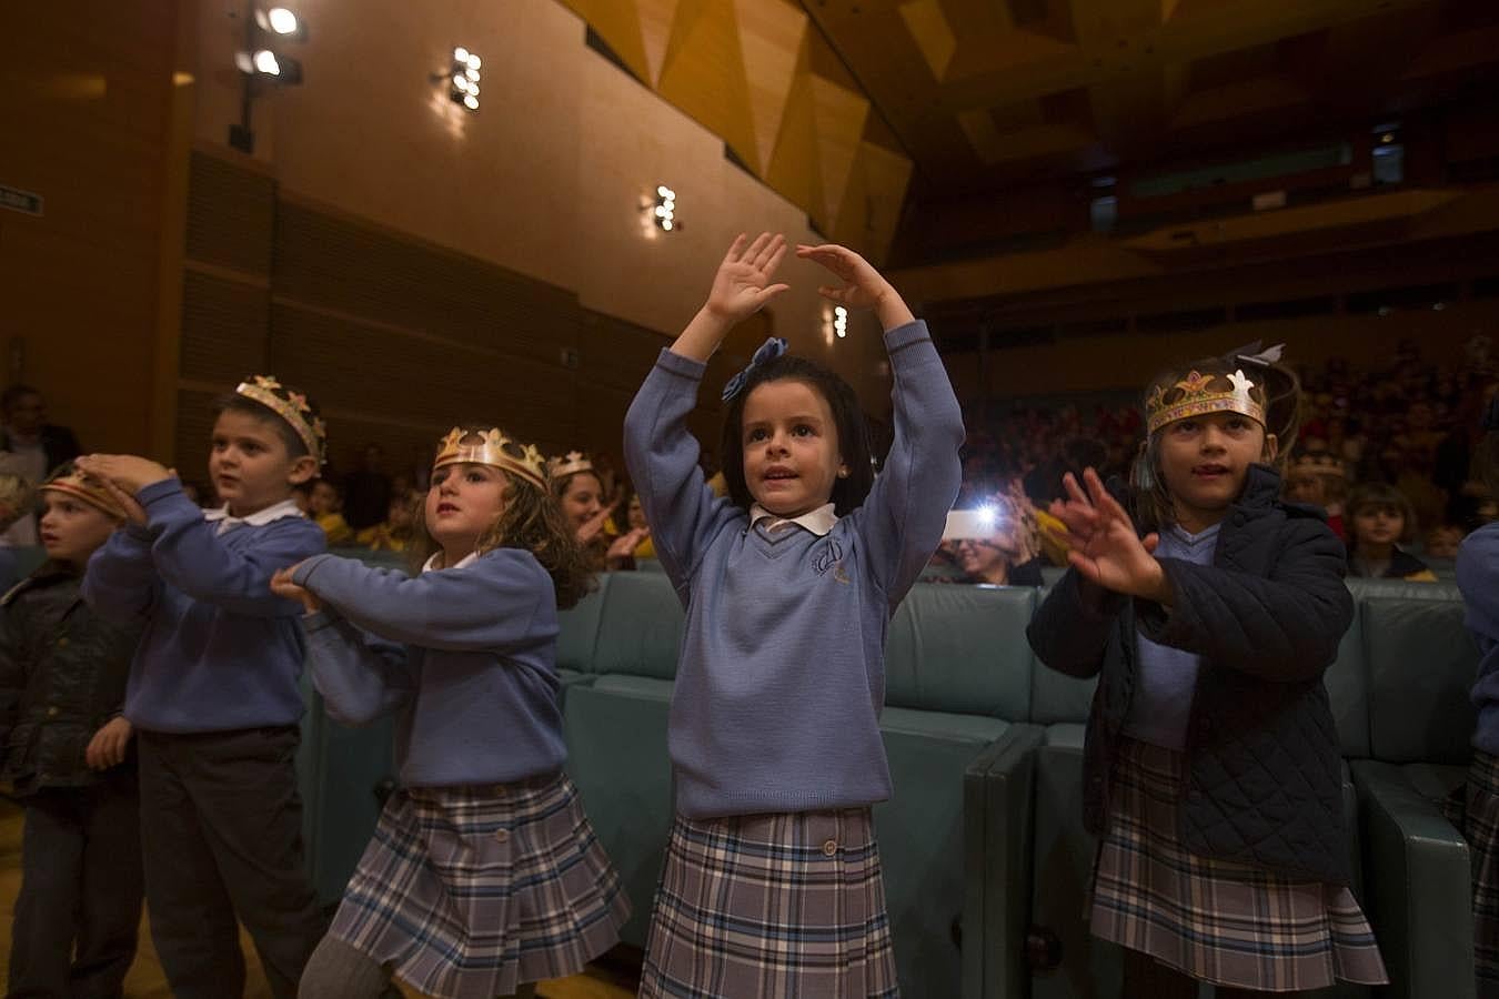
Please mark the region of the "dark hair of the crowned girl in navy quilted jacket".
<svg viewBox="0 0 1499 999"><path fill-rule="evenodd" d="M1301 430L1301 380L1295 371L1280 362L1250 361L1240 352L1217 358L1198 358L1153 377L1150 385L1145 386L1145 398L1148 400L1157 389L1171 389L1189 371L1226 379L1240 370L1256 382L1256 388L1264 389L1264 394L1255 401L1259 401L1265 409L1265 436L1276 436L1276 455L1274 458L1267 458L1264 463L1270 464L1276 472L1283 472L1286 455L1291 454L1291 448L1295 445L1297 434ZM1148 404L1145 410L1148 415ZM1165 476L1160 473L1160 434L1169 425L1157 428L1156 433L1145 439L1130 475L1136 487L1133 514L1136 523L1144 530L1159 530L1177 520L1171 493L1166 490Z"/></svg>

